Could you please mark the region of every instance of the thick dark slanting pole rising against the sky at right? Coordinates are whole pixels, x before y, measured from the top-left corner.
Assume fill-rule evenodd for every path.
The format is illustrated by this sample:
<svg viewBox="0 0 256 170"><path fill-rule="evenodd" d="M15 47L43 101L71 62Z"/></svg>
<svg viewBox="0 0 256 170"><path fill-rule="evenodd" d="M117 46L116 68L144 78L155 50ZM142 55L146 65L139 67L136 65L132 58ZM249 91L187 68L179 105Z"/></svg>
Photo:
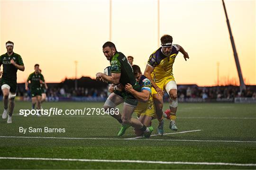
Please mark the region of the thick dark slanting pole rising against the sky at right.
<svg viewBox="0 0 256 170"><path fill-rule="evenodd" d="M234 58L235 58L236 66L237 66L237 70L238 70L238 76L239 76L239 82L240 82L240 92L242 92L243 90L246 89L246 85L245 85L245 82L244 82L244 79L243 79L242 70L241 70L241 67L240 67L239 59L238 59L238 53L237 53L234 38L233 38L233 35L232 35L232 32L231 32L231 27L230 27L230 24L229 24L229 18L228 18L228 14L227 14L227 10L226 10L226 7L225 7L224 0L222 0L222 4L223 4L225 15L226 15L226 18L227 18L227 25L228 25L228 28L229 28L230 41L231 41L231 44L232 44Z"/></svg>

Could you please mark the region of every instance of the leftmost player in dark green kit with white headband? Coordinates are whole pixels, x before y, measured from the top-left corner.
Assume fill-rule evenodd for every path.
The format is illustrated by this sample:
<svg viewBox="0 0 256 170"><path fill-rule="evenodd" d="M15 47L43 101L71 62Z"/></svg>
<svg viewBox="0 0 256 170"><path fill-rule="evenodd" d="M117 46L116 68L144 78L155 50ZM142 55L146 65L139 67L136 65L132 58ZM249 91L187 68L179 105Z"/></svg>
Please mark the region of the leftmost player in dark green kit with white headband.
<svg viewBox="0 0 256 170"><path fill-rule="evenodd" d="M0 56L0 66L3 65L3 72L0 72L1 80L1 90L3 93L3 105L4 111L2 114L2 119L7 118L8 113L8 103L9 103L9 113L7 123L12 123L12 112L14 109L14 98L17 92L17 71L25 70L22 58L17 53L13 52L13 42L5 43L7 53Z"/></svg>

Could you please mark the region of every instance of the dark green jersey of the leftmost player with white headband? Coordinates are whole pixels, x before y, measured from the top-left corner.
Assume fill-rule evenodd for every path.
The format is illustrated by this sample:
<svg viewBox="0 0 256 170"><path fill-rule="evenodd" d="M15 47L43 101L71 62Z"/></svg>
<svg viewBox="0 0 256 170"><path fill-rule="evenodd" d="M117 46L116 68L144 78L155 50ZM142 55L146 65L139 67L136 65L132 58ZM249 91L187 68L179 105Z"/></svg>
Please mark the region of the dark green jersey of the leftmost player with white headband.
<svg viewBox="0 0 256 170"><path fill-rule="evenodd" d="M10 60L13 59L16 64L20 66L24 66L22 58L20 55L16 53L12 53L12 55L8 55L7 53L0 56L0 66L3 65L3 74L2 79L6 81L17 81L17 70L14 65L11 64Z"/></svg>

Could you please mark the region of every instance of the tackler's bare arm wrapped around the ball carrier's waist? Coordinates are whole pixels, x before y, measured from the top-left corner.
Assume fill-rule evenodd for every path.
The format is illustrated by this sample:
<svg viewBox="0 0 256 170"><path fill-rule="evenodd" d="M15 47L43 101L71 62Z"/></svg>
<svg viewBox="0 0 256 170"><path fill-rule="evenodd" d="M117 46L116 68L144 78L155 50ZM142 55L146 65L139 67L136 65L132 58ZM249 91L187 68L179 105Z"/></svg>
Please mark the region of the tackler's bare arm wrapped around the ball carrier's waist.
<svg viewBox="0 0 256 170"><path fill-rule="evenodd" d="M137 92L132 88L132 85L130 84L125 85L125 91L131 93L136 99L142 102L147 102L151 94L151 92L148 90L142 90L141 92Z"/></svg>

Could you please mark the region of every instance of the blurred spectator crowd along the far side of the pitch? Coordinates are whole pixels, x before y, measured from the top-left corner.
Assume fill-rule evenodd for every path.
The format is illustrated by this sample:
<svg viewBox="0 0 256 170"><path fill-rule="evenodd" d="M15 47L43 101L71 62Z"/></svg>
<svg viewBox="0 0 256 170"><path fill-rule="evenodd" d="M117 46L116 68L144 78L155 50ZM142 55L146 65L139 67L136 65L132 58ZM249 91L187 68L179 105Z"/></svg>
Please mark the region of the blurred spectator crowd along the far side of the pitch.
<svg viewBox="0 0 256 170"><path fill-rule="evenodd" d="M105 98L109 95L108 87L105 88L84 88L78 87L68 88L63 87L51 87L47 89L46 95L48 97L100 97ZM22 87L19 87L18 96L30 97L30 91L25 91ZM213 100L213 99L234 99L235 97L252 97L256 98L256 86L247 85L247 89L240 92L239 86L210 86L210 87L200 87L197 85L178 85L178 99L193 99L201 98L203 100ZM164 94L164 99L168 99L168 94Z"/></svg>

